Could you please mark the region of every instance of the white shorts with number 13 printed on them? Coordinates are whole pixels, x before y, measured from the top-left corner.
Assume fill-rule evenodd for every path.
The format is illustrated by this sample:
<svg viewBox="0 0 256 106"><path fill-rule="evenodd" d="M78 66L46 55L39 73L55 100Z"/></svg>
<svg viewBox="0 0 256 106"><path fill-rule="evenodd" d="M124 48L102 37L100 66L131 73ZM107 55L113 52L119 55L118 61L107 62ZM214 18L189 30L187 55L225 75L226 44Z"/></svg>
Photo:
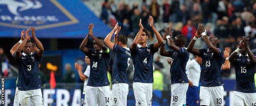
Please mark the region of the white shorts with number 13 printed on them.
<svg viewBox="0 0 256 106"><path fill-rule="evenodd" d="M200 105L223 106L223 86L200 87Z"/></svg>

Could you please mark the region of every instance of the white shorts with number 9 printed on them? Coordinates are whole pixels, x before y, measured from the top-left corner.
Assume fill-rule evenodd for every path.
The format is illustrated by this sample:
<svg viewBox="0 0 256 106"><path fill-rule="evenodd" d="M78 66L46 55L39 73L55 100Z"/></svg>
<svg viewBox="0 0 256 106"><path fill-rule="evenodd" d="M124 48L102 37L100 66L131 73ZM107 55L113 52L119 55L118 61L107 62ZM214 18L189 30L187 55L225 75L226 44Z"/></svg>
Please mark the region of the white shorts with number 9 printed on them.
<svg viewBox="0 0 256 106"><path fill-rule="evenodd" d="M112 104L113 106L127 106L127 95L129 85L126 83L114 83L112 85Z"/></svg>

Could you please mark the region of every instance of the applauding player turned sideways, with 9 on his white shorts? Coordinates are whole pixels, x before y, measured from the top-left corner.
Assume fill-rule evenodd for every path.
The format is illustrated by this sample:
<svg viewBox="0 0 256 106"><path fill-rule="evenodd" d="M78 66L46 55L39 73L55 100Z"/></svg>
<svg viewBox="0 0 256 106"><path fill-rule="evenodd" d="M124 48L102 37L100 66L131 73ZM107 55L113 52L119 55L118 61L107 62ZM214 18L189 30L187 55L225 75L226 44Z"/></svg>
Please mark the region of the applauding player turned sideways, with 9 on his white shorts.
<svg viewBox="0 0 256 106"><path fill-rule="evenodd" d="M131 58L130 49L127 48L128 39L125 35L116 36L115 43L110 41L113 33L117 32L118 29L121 29L121 27L117 23L114 29L107 35L104 42L115 52L112 66L112 104L113 106L126 106L129 91L126 72L130 66Z"/></svg>

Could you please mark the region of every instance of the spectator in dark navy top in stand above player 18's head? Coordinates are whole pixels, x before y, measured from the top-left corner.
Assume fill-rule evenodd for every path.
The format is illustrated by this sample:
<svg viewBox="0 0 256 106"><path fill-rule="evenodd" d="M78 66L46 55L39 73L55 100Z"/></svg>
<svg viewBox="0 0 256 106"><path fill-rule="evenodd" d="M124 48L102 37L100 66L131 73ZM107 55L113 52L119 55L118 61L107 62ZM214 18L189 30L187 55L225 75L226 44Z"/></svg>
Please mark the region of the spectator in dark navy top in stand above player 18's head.
<svg viewBox="0 0 256 106"><path fill-rule="evenodd" d="M186 5L182 4L181 11L178 11L177 22L186 24L187 20L190 20L190 13L187 11Z"/></svg>

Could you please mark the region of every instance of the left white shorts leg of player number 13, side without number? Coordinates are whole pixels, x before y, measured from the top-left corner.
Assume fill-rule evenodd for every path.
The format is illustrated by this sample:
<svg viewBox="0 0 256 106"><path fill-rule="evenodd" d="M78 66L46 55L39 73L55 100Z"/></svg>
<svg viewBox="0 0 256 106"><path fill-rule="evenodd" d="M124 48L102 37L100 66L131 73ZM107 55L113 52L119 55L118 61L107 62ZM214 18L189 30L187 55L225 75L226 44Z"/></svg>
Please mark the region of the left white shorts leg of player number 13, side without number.
<svg viewBox="0 0 256 106"><path fill-rule="evenodd" d="M210 106L211 95L210 95L209 87L201 86L199 97L200 97L201 106Z"/></svg>

